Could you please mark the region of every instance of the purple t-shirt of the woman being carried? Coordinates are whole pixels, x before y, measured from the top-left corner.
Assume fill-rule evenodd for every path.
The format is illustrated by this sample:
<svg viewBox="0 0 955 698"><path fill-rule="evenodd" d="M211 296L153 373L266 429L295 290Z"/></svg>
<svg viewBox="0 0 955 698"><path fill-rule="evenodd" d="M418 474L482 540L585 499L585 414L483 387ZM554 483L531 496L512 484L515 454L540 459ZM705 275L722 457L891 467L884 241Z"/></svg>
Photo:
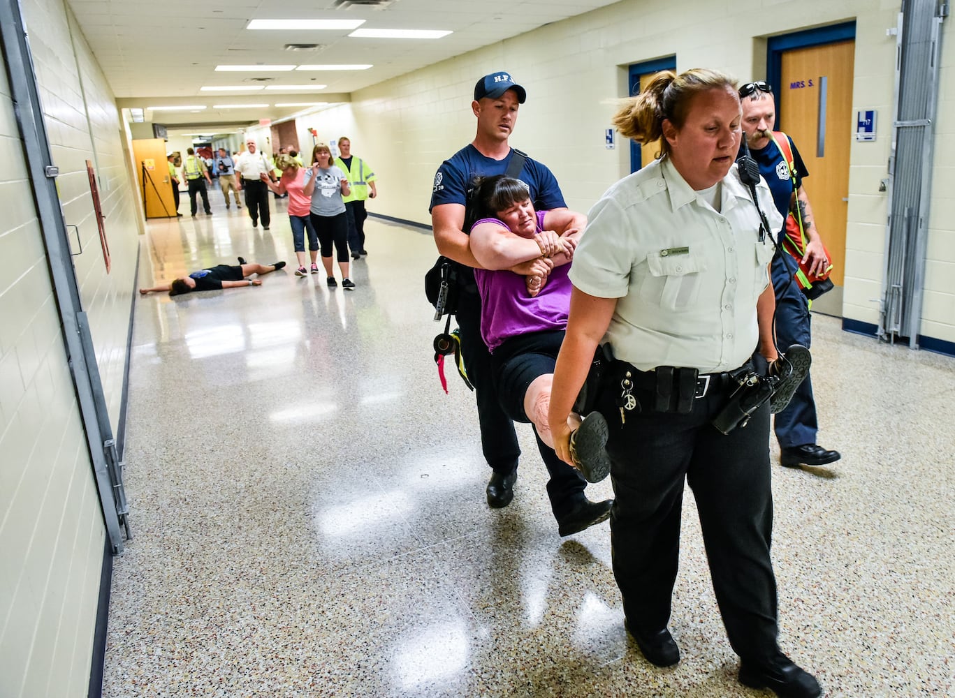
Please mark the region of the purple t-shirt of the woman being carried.
<svg viewBox="0 0 955 698"><path fill-rule="evenodd" d="M538 211L538 233L543 230L543 216ZM482 218L480 223L506 225L498 218ZM539 293L531 298L527 293L525 277L507 270L475 269L477 291L480 293L480 336L493 353L504 339L528 332L563 330L570 313L569 264L556 267L547 277Z"/></svg>

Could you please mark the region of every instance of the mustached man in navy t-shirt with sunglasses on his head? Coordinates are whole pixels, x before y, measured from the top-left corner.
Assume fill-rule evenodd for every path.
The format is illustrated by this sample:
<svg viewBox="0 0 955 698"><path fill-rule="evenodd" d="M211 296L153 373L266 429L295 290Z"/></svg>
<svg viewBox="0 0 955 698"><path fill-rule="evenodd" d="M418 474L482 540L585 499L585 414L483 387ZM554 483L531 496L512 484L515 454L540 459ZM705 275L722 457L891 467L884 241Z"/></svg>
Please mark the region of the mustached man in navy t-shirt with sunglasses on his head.
<svg viewBox="0 0 955 698"><path fill-rule="evenodd" d="M751 82L740 88L739 96L743 105L742 127L746 142L750 146L750 154L759 164L759 173L769 185L779 213L785 217L791 206L799 207L803 230L809 239L806 254L812 264L810 271L820 273L829 260L826 259L825 248L816 228L809 196L802 186L802 178L809 173L806 172L802 157L790 138L796 170L794 182L790 176L789 163L775 143L772 131L775 122L773 89L765 82ZM775 236L780 236L780 242L784 232L785 223L783 230L774 231ZM775 334L779 348L783 351L792 344L806 347L812 344L809 302L793 279L795 264L795 259L789 255L783 257L778 250L773 257ZM801 464L825 465L841 458L838 451L827 450L816 442L816 401L813 397L813 383L808 375L796 388L793 399L786 408L775 416L774 430L776 441L779 441L779 462L787 467L798 467Z"/></svg>

